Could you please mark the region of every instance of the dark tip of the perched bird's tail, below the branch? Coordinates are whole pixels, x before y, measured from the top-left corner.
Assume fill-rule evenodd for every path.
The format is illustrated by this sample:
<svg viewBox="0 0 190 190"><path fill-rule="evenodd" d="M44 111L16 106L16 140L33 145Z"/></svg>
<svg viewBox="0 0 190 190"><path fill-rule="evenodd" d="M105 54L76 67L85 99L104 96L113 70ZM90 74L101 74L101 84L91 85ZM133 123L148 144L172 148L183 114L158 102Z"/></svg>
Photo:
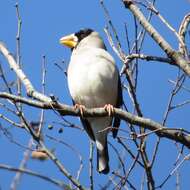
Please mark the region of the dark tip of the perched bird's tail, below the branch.
<svg viewBox="0 0 190 190"><path fill-rule="evenodd" d="M109 155L107 142L103 150L97 147L97 170L99 173L107 174L110 171L109 168Z"/></svg>

